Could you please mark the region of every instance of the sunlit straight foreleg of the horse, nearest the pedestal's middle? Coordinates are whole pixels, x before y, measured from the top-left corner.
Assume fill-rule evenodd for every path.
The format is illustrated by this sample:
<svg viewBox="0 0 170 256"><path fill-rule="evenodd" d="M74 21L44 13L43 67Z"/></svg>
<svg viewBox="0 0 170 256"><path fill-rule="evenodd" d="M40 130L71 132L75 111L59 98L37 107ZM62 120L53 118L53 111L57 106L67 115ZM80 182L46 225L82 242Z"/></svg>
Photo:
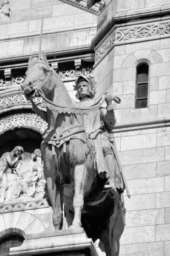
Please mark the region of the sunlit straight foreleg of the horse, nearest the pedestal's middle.
<svg viewBox="0 0 170 256"><path fill-rule="evenodd" d="M74 169L74 199L73 199L73 208L74 208L74 220L71 228L79 228L81 224L81 212L84 205L84 191L85 185L87 183L87 167L85 164L77 165Z"/></svg>

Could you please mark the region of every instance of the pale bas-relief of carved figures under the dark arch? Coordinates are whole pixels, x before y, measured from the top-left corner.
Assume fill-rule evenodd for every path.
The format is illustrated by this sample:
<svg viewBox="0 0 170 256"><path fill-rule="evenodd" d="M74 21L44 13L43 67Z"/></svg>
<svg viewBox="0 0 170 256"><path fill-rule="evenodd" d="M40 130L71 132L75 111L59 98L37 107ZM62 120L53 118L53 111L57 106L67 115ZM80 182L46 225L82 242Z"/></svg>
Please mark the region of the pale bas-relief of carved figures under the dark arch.
<svg viewBox="0 0 170 256"><path fill-rule="evenodd" d="M42 198L45 178L40 149L24 152L17 146L0 158L0 202Z"/></svg>

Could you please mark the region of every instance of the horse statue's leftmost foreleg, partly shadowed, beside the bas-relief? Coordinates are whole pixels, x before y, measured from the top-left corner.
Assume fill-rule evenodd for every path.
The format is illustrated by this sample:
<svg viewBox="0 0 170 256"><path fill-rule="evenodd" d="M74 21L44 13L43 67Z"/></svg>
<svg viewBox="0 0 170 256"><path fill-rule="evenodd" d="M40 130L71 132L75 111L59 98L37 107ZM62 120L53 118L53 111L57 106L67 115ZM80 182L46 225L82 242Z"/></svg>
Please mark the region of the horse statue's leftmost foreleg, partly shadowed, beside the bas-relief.
<svg viewBox="0 0 170 256"><path fill-rule="evenodd" d="M57 184L57 166L58 157L52 156L51 147L48 144L41 145L42 158L44 163L44 175L47 181L47 191L53 209L53 224L56 230L62 229L63 222L63 203L62 193L63 188L60 184Z"/></svg>

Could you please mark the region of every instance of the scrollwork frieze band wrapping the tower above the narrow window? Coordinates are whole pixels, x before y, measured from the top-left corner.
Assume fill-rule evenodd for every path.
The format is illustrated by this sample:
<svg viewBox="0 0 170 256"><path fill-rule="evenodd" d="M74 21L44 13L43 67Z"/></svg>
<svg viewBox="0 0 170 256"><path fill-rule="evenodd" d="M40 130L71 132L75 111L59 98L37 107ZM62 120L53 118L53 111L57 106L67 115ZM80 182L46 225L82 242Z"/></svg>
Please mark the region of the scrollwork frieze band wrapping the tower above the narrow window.
<svg viewBox="0 0 170 256"><path fill-rule="evenodd" d="M133 41L150 40L159 38L161 35L170 35L170 22L154 23L124 28L114 28L113 32L99 47L95 55L95 63L105 55L115 44L131 43Z"/></svg>

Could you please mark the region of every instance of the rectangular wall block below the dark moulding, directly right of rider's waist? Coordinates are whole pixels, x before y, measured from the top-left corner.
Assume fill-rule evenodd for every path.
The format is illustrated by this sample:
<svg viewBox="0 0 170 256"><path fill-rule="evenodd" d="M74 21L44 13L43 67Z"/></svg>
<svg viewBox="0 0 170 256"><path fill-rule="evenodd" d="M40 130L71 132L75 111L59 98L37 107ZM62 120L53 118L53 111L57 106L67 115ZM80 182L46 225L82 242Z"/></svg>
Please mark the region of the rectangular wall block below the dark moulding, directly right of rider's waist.
<svg viewBox="0 0 170 256"><path fill-rule="evenodd" d="M121 151L156 147L156 133L121 138Z"/></svg>

